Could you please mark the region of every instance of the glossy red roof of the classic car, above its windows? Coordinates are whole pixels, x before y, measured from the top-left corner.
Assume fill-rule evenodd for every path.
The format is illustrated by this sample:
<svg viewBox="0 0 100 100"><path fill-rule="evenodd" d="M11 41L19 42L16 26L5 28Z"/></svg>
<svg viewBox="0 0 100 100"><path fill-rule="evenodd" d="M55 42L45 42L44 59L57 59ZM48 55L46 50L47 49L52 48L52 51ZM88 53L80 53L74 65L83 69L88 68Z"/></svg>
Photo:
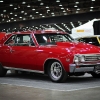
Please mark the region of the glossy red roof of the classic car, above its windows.
<svg viewBox="0 0 100 100"><path fill-rule="evenodd" d="M13 34L48 34L48 33L57 33L57 34L66 34L66 32L58 30L34 30L34 31L21 31L21 32L12 32Z"/></svg>

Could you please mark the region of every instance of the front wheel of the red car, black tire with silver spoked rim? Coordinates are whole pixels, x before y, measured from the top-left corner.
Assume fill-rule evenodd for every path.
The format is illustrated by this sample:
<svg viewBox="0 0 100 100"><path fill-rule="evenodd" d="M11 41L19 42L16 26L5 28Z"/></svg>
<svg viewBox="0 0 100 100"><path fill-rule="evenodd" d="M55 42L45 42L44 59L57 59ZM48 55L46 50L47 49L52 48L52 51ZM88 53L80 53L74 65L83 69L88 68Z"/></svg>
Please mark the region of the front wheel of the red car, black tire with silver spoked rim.
<svg viewBox="0 0 100 100"><path fill-rule="evenodd" d="M48 76L53 82L65 82L68 74L58 61L51 61L48 66Z"/></svg>

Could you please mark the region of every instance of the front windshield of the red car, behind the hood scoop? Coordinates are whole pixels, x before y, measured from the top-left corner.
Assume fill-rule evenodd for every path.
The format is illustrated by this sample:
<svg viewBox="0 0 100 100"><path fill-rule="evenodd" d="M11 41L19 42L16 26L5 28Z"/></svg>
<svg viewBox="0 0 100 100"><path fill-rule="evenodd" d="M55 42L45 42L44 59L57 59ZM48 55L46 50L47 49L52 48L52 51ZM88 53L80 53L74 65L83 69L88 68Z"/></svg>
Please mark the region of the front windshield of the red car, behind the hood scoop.
<svg viewBox="0 0 100 100"><path fill-rule="evenodd" d="M49 45L49 44L55 44L56 42L74 41L74 39L68 34L57 34L57 33L35 34L35 37L39 45Z"/></svg>

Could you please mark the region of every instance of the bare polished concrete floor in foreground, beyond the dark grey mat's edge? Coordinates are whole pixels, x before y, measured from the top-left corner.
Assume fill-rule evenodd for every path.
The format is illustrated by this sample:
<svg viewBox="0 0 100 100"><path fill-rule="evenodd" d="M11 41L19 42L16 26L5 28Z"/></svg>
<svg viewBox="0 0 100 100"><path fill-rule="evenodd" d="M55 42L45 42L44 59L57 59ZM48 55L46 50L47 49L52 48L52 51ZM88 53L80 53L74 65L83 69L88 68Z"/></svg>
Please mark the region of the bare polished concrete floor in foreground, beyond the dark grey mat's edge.
<svg viewBox="0 0 100 100"><path fill-rule="evenodd" d="M57 91L0 84L0 100L100 100L100 87Z"/></svg>

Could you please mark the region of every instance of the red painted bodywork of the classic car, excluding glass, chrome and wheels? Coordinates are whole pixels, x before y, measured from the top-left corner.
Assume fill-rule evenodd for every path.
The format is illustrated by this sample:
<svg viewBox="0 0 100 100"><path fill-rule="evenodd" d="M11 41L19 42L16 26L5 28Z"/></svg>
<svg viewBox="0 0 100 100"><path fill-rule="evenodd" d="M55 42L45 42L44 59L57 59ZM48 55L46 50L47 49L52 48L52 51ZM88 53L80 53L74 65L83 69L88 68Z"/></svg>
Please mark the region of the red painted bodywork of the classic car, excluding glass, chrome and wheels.
<svg viewBox="0 0 100 100"><path fill-rule="evenodd" d="M13 34L43 34L44 31L34 32L17 32ZM50 31L49 31L50 33ZM53 34L53 32L51 32ZM61 33L65 34L65 33ZM56 59L60 61L66 71L69 71L69 64L73 63L74 54L100 54L100 50L96 46L75 42L57 42L56 45L40 46L7 46L4 42L11 36L8 34L0 41L0 63L3 66L44 70L44 64L48 59ZM12 53L10 51L13 51ZM69 62L66 59L70 59Z"/></svg>

